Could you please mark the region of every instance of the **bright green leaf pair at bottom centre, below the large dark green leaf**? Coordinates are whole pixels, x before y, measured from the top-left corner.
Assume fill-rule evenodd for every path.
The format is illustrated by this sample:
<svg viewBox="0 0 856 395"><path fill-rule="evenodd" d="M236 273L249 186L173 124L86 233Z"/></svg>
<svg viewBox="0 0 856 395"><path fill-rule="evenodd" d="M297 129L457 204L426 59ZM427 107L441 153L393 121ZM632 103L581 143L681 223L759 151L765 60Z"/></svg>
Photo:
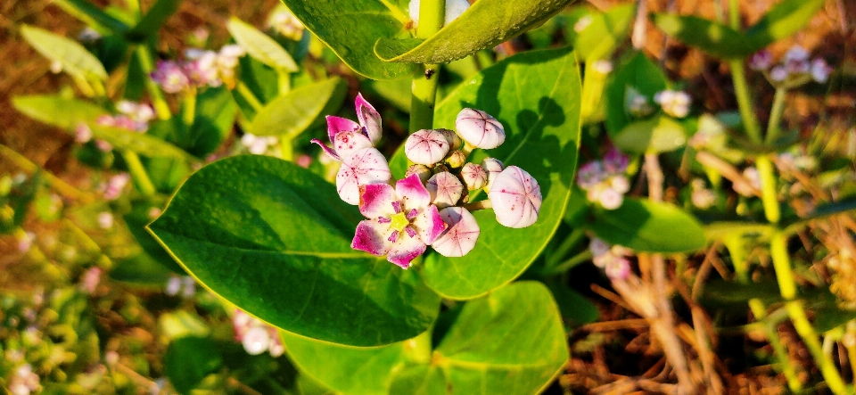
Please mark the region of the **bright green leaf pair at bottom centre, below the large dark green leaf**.
<svg viewBox="0 0 856 395"><path fill-rule="evenodd" d="M347 394L534 394L569 357L556 303L534 282L467 302L433 351L427 334L363 350L284 342L304 374Z"/></svg>

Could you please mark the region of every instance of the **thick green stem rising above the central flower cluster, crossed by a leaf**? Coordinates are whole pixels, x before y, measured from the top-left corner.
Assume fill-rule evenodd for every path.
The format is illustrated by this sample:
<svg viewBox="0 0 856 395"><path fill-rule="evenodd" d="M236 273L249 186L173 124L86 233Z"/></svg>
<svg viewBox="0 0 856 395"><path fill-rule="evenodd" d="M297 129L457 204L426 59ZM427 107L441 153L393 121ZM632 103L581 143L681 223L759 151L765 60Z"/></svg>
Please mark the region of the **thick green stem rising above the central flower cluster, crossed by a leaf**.
<svg viewBox="0 0 856 395"><path fill-rule="evenodd" d="M446 0L423 0L419 4L416 38L432 37L443 27ZM413 75L410 96L410 133L430 129L434 124L434 102L437 98L439 64L424 64Z"/></svg>

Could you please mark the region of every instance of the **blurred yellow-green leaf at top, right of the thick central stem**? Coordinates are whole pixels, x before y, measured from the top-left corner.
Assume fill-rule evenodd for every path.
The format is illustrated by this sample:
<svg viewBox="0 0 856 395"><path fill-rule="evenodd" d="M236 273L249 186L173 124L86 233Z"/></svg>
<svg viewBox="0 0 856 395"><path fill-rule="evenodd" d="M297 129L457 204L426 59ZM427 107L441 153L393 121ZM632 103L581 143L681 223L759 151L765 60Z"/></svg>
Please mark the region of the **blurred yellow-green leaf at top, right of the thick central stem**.
<svg viewBox="0 0 856 395"><path fill-rule="evenodd" d="M592 14L591 23L574 40L574 49L585 62L608 59L627 38L635 15L635 4L616 5L607 12Z"/></svg>

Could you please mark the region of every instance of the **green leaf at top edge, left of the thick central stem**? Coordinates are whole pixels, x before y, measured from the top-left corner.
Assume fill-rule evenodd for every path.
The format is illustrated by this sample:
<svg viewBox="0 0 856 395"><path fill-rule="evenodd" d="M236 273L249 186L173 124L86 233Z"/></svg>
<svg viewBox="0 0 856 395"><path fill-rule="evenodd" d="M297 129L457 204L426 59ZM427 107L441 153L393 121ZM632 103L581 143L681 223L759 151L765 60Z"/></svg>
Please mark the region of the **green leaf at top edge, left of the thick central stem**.
<svg viewBox="0 0 856 395"><path fill-rule="evenodd" d="M387 63L374 55L374 42L396 37L409 23L407 1L283 0L306 29L328 45L342 62L372 79L409 77L411 64Z"/></svg>

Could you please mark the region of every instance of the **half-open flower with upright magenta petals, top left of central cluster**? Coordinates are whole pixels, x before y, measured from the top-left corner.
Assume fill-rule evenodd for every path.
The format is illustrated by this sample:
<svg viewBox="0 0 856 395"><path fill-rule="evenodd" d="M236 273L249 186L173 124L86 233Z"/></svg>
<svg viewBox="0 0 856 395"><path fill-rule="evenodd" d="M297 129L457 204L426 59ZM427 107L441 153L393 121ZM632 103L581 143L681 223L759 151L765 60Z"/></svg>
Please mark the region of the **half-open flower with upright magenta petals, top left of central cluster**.
<svg viewBox="0 0 856 395"><path fill-rule="evenodd" d="M333 115L327 116L327 135L330 136L333 148L317 138L312 139L312 143L320 145L333 160L342 161L360 149L374 147L381 139L381 115L374 110L372 104L366 102L362 94L357 95L354 104L357 107L359 123Z"/></svg>

